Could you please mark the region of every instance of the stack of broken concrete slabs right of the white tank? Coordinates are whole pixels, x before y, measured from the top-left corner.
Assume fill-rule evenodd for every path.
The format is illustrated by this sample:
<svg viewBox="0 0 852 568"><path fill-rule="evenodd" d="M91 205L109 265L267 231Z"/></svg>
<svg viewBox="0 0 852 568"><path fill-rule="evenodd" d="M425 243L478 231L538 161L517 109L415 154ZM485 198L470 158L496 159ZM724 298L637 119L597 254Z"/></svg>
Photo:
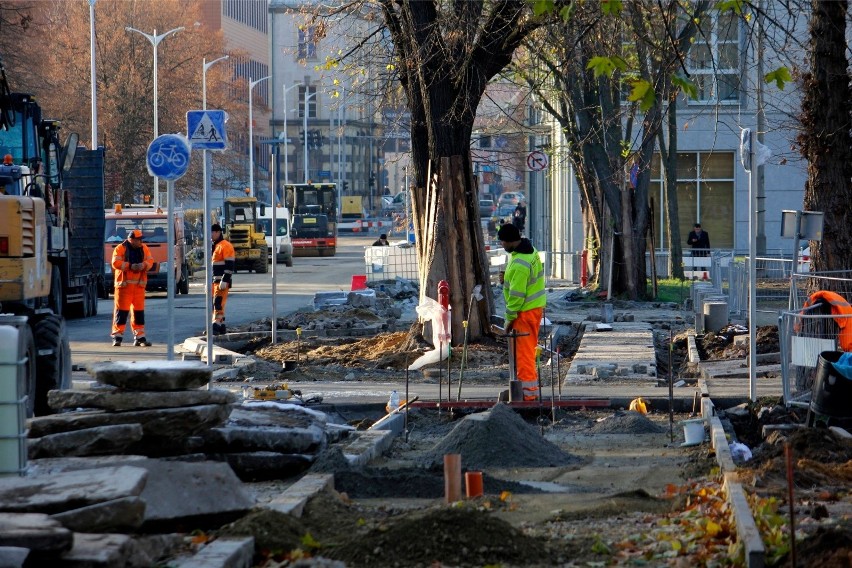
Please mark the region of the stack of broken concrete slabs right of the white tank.
<svg viewBox="0 0 852 568"><path fill-rule="evenodd" d="M33 418L29 457L139 453L179 455L196 451L199 436L221 426L236 395L198 390L210 368L192 361L98 363L89 391L51 391L54 410L85 409Z"/></svg>

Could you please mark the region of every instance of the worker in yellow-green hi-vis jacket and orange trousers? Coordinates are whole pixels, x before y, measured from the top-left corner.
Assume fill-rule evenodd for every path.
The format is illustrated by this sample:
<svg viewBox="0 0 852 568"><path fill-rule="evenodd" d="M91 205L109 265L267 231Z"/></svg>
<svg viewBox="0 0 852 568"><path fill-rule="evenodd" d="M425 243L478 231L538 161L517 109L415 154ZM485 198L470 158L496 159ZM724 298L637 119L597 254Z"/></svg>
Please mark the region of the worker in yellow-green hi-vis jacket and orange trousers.
<svg viewBox="0 0 852 568"><path fill-rule="evenodd" d="M524 389L524 400L537 400L538 373L536 346L541 317L547 302L544 290L544 267L538 251L521 231L507 223L497 231L509 262L503 275L503 299L506 301L505 332L515 337L515 376Z"/></svg>

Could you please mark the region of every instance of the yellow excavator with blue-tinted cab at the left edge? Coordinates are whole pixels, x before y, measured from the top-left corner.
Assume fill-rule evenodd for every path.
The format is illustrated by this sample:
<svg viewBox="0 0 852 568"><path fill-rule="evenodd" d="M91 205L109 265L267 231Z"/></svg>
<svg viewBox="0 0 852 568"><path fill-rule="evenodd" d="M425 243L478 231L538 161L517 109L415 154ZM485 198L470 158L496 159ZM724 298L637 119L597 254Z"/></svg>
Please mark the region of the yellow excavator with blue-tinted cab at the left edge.
<svg viewBox="0 0 852 568"><path fill-rule="evenodd" d="M63 176L78 137L61 146L58 131L57 122L42 119L33 96L10 91L0 63L0 325L18 329L18 393L26 396L29 416L49 413L47 392L71 382L63 307L73 260L72 206ZM94 278L81 280L80 306L83 299L97 302L97 285Z"/></svg>

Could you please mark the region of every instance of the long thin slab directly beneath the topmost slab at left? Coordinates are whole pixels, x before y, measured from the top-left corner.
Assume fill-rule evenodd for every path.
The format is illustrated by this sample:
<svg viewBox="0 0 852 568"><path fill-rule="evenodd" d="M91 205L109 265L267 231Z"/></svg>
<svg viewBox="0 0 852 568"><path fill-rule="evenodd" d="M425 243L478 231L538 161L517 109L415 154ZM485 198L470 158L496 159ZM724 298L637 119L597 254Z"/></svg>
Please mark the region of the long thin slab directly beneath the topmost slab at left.
<svg viewBox="0 0 852 568"><path fill-rule="evenodd" d="M113 412L176 408L202 404L232 404L237 394L222 389L188 390L170 392L140 392L122 390L52 390L47 393L47 403L54 410L66 408L100 408Z"/></svg>

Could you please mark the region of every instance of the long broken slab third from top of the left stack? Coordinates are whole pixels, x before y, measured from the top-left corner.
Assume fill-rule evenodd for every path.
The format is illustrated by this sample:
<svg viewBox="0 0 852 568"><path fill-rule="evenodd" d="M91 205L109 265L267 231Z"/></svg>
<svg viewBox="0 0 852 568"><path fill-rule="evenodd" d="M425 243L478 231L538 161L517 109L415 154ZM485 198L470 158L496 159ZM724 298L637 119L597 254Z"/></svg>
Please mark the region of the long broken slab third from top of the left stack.
<svg viewBox="0 0 852 568"><path fill-rule="evenodd" d="M68 412L52 416L41 416L28 421L31 438L48 434L108 426L115 424L141 424L145 438L172 439L176 433L194 436L214 426L225 423L231 414L231 406L205 404L182 408L158 408L130 412Z"/></svg>

